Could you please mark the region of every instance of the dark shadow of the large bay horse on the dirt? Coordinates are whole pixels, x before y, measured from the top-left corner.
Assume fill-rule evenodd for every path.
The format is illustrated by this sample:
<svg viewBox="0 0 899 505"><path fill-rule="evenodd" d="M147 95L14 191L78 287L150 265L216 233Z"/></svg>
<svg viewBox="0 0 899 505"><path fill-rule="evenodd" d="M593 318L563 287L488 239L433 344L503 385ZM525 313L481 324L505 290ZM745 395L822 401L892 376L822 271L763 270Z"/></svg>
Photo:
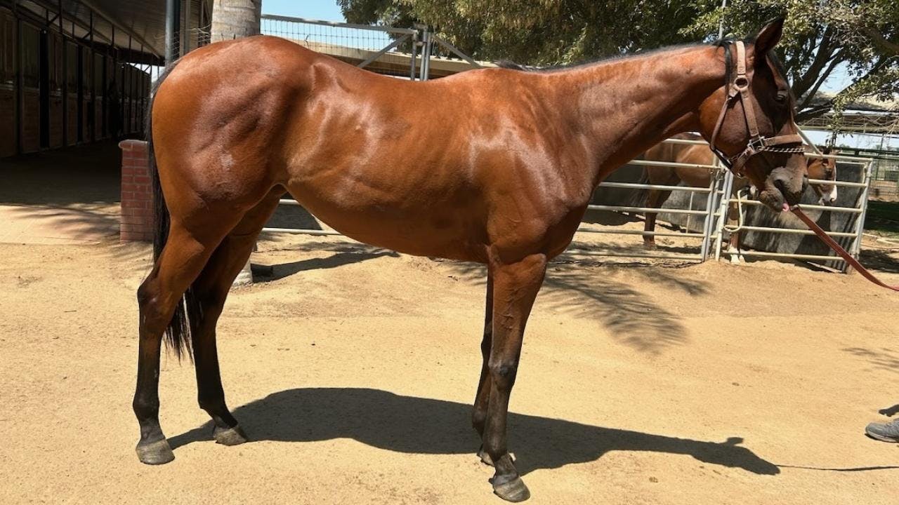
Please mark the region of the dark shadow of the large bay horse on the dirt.
<svg viewBox="0 0 899 505"><path fill-rule="evenodd" d="M415 454L474 454L471 406L368 388L302 388L269 394L236 409L250 439L305 442L355 439L372 447ZM779 474L777 465L737 444L708 442L589 426L509 413L510 447L521 474L599 459L610 451L692 456L711 465ZM211 425L169 439L172 447L210 438Z"/></svg>

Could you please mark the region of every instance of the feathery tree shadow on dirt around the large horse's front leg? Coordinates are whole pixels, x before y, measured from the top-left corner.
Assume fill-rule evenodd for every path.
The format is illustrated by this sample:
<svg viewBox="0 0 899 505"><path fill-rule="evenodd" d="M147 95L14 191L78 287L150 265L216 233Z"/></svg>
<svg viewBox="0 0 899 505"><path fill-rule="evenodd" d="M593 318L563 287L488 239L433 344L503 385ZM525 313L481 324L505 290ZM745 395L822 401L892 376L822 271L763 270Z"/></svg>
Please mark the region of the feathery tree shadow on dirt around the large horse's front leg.
<svg viewBox="0 0 899 505"><path fill-rule="evenodd" d="M591 268L597 266L599 268ZM628 267L628 273L645 277L655 285L681 290L691 296L708 293L708 283L678 276L675 274L677 268L641 263ZM453 268L461 279L482 284L486 281L484 265L453 263ZM616 341L650 354L658 354L667 347L687 341L687 329L681 323L680 315L659 306L626 279L611 277L608 271L603 271L608 268L595 261L565 258L553 261L547 268L535 310L549 306L568 314L586 313L604 324Z"/></svg>

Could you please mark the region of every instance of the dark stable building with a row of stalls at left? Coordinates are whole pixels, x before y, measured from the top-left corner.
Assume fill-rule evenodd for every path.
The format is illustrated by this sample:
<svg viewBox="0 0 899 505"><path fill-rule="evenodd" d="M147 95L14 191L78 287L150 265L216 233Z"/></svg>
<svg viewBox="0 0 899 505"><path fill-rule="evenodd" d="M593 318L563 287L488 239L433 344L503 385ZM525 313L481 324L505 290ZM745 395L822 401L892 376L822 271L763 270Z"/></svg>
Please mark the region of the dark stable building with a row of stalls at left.
<svg viewBox="0 0 899 505"><path fill-rule="evenodd" d="M178 4L186 51L211 5ZM0 0L0 157L142 135L165 21L163 1Z"/></svg>

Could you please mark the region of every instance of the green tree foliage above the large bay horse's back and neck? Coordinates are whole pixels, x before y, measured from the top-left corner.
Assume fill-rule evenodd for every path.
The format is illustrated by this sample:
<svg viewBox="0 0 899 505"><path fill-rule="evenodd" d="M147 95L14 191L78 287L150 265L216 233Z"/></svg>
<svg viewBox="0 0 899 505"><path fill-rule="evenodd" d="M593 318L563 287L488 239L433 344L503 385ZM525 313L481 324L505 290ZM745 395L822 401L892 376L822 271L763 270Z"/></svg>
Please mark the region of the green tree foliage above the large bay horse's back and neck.
<svg viewBox="0 0 899 505"><path fill-rule="evenodd" d="M476 59L557 65L717 38L720 0L337 0L349 22L432 25ZM756 33L786 17L779 56L797 95L799 120L861 98L899 93L896 0L732 0L726 35ZM834 72L850 84L814 100ZM839 116L839 114L838 114Z"/></svg>

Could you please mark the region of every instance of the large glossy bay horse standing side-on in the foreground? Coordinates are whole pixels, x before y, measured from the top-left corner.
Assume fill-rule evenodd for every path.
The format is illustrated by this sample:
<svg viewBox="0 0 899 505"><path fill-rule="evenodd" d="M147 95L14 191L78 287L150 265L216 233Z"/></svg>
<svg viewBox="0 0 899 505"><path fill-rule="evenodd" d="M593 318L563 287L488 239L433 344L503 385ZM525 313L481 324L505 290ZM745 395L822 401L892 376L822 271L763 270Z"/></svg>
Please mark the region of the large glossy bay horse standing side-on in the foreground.
<svg viewBox="0 0 899 505"><path fill-rule="evenodd" d="M192 51L158 80L147 129L158 229L138 288L140 461L174 459L159 426L164 340L192 354L213 437L245 442L225 402L216 323L287 191L360 242L486 265L472 424L494 492L527 499L506 447L509 395L547 261L571 243L597 184L663 138L699 131L771 208L805 190L794 105L771 52L782 24L747 40L427 82L276 37Z"/></svg>

